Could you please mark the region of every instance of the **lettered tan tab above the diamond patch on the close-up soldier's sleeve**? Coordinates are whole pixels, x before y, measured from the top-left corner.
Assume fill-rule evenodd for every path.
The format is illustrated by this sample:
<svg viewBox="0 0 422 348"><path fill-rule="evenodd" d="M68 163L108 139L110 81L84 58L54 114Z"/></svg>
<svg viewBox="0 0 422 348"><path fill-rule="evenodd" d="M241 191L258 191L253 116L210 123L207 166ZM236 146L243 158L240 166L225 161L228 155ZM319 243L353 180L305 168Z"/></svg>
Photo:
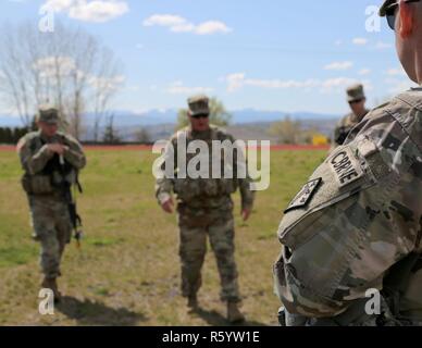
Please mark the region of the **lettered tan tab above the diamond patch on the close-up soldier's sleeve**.
<svg viewBox="0 0 422 348"><path fill-rule="evenodd" d="M355 183L364 175L359 160L349 148L344 148L333 154L328 159L328 164L339 187Z"/></svg>

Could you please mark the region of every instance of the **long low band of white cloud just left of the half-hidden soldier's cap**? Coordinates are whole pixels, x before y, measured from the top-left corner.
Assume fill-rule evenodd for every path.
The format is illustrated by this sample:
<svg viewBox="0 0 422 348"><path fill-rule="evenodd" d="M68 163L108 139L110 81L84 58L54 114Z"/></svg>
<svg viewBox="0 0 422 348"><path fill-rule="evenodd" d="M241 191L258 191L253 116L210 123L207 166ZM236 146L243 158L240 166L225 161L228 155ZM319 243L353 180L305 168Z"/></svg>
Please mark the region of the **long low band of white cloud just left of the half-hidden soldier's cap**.
<svg viewBox="0 0 422 348"><path fill-rule="evenodd" d="M257 79L257 78L247 78L245 73L235 73L227 75L225 77L227 84L227 91L235 92L243 87L251 86L258 88L266 89L318 89L320 92L333 92L344 89L349 85L356 84L358 80L355 78L348 77L336 77L328 79L316 79L308 78L305 80L295 80L295 79ZM369 80L364 82L368 88L371 88L371 83Z"/></svg>

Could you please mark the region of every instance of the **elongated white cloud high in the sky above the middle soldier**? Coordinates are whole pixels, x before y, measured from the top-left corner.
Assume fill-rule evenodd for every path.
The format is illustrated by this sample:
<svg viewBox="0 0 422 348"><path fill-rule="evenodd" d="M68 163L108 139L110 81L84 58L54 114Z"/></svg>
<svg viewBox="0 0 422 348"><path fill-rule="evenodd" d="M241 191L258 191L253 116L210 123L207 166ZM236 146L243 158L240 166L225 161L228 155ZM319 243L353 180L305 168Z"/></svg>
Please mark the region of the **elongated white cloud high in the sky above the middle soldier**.
<svg viewBox="0 0 422 348"><path fill-rule="evenodd" d="M220 21L207 21L194 24L174 14L151 15L144 21L144 26L163 26L170 28L173 33L194 33L197 35L226 34L232 32L232 28Z"/></svg>

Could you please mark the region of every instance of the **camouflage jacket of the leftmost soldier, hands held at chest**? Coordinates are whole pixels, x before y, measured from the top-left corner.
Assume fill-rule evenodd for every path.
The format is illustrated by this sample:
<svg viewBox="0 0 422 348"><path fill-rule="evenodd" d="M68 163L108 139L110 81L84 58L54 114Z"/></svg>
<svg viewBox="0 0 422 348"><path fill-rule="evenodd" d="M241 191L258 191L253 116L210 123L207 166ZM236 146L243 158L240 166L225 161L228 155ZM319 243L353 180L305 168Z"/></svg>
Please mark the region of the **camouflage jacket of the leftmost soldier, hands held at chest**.
<svg viewBox="0 0 422 348"><path fill-rule="evenodd" d="M67 147L63 154L63 171L53 169L52 163L59 162L60 159L48 149L48 144L52 142ZM78 171L86 165L80 144L62 133L58 133L53 139L45 138L39 130L28 133L18 141L17 153L25 171L22 184L29 195L54 194L59 190L54 182L60 183L62 179L71 185L75 184Z"/></svg>

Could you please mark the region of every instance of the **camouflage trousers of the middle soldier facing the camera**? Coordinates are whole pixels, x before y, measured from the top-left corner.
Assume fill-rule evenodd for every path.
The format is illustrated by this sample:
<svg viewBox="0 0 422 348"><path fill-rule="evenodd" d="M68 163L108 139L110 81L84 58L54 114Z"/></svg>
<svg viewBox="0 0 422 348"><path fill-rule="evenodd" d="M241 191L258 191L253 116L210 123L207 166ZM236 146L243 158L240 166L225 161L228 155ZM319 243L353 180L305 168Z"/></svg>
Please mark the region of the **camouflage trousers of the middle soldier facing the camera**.
<svg viewBox="0 0 422 348"><path fill-rule="evenodd" d="M189 213L178 206L182 294L196 295L202 285L201 269L207 253L207 236L220 273L222 301L240 301L235 262L234 219L232 209Z"/></svg>

